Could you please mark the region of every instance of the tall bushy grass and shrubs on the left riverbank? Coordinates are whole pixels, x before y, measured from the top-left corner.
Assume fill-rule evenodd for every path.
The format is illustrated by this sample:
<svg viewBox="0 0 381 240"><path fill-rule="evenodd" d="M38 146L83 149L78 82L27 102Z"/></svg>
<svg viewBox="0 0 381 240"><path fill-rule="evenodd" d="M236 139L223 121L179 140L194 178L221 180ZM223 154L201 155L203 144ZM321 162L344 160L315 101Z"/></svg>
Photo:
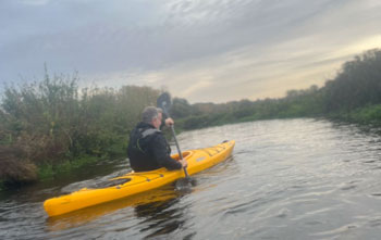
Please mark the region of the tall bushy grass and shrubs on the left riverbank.
<svg viewBox="0 0 381 240"><path fill-rule="evenodd" d="M76 74L46 74L40 81L5 86L0 181L34 181L40 166L54 169L84 156L124 155L131 129L159 93L136 86L79 89Z"/></svg>

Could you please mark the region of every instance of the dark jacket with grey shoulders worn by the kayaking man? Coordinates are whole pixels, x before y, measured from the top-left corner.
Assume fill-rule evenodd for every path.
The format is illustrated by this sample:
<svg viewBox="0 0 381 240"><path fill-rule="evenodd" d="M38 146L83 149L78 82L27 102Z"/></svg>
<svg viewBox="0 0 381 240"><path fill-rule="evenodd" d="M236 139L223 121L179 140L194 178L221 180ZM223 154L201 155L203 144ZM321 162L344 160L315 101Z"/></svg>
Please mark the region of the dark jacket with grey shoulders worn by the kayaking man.
<svg viewBox="0 0 381 240"><path fill-rule="evenodd" d="M182 164L170 156L171 148L161 130L147 123L138 123L131 132L127 154L135 172L182 168Z"/></svg>

